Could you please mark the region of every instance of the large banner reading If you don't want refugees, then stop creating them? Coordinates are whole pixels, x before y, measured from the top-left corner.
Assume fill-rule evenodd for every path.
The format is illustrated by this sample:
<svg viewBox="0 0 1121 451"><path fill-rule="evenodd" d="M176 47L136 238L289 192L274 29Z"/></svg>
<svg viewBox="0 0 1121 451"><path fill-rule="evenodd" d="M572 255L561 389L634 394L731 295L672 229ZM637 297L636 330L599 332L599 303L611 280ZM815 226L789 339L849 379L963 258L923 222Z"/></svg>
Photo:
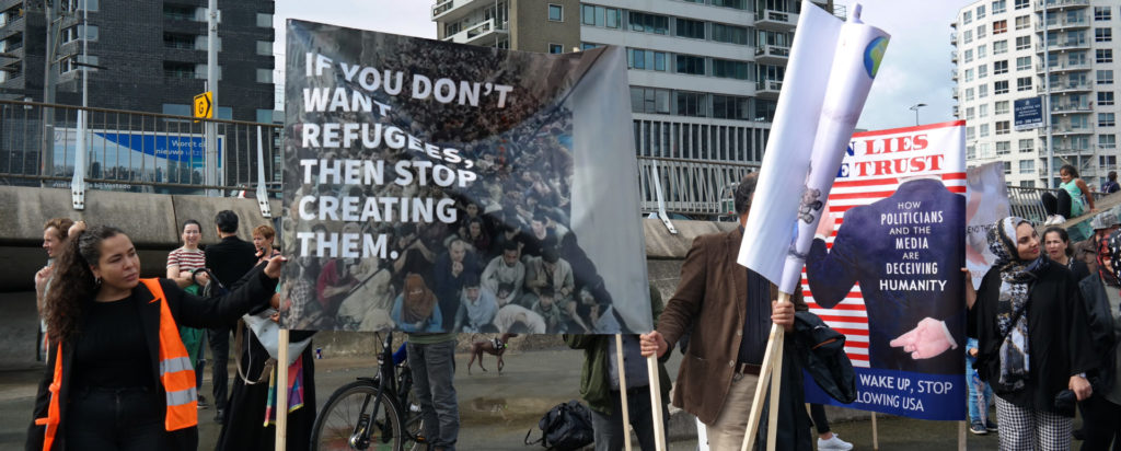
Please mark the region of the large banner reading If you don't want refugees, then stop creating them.
<svg viewBox="0 0 1121 451"><path fill-rule="evenodd" d="M618 53L289 21L285 328L649 330L637 187L587 155L637 178L631 146L590 145L630 129L627 91L581 101L626 84ZM587 108L622 114L574 121Z"/></svg>

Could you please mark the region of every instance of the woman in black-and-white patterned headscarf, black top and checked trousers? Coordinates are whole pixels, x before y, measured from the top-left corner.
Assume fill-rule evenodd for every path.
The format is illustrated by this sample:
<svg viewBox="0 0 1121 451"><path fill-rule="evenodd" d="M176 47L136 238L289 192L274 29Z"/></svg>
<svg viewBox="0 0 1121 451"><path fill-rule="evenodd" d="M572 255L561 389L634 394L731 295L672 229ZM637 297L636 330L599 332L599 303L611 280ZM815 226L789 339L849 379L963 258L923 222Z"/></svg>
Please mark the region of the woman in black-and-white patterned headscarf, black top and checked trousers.
<svg viewBox="0 0 1121 451"><path fill-rule="evenodd" d="M976 292L965 286L975 368L997 394L1000 449L1068 450L1073 406L1066 412L1056 401L1067 389L1088 398L1085 371L1096 366L1078 282L1040 252L1025 219L998 221L988 238L997 261Z"/></svg>

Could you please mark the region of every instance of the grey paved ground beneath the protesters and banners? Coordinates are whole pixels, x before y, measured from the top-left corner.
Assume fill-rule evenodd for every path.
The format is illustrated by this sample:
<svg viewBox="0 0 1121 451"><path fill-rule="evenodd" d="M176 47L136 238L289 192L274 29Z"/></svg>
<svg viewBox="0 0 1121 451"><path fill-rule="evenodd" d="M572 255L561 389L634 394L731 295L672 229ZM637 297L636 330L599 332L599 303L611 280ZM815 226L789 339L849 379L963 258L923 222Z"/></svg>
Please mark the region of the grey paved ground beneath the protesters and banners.
<svg viewBox="0 0 1121 451"><path fill-rule="evenodd" d="M678 355L679 356L679 355ZM467 355L456 356L458 369L455 386L460 399L463 429L460 449L463 450L538 450L526 447L522 439L534 429L537 420L555 404L580 396L582 353L571 350L511 352L507 356L502 376L493 372L493 357L487 356L491 372L467 376ZM670 361L676 374L678 357ZM207 371L209 372L209 371ZM336 358L316 361L316 393L318 403L339 386L358 376L373 374L369 359ZM7 369L0 371L0 449L22 448L36 378L41 369ZM203 393L210 393L206 381ZM318 406L317 406L318 407ZM216 441L219 426L211 422L213 411L200 415L200 450L210 450ZM879 449L882 450L953 450L957 445L958 423L926 422L881 415L878 420ZM834 424L833 430L856 449L872 449L871 422L854 421ZM971 450L995 450L995 434L975 436L967 434ZM535 434L535 438L537 435ZM1077 445L1077 444L1076 444ZM670 450L693 450L696 441L676 440ZM636 443L634 449L638 449Z"/></svg>

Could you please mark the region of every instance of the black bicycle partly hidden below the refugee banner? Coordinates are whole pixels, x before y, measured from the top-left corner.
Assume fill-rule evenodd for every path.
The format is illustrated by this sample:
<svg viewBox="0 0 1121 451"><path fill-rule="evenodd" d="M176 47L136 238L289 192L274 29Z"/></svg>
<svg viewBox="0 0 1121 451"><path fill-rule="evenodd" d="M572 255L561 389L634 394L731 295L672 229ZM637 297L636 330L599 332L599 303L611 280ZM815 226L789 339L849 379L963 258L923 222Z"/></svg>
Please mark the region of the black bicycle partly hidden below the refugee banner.
<svg viewBox="0 0 1121 451"><path fill-rule="evenodd" d="M381 339L381 334L377 334ZM411 395L407 361L393 363L392 332L378 355L378 375L359 377L331 394L315 418L312 447L330 450L420 450L425 440L420 405Z"/></svg>

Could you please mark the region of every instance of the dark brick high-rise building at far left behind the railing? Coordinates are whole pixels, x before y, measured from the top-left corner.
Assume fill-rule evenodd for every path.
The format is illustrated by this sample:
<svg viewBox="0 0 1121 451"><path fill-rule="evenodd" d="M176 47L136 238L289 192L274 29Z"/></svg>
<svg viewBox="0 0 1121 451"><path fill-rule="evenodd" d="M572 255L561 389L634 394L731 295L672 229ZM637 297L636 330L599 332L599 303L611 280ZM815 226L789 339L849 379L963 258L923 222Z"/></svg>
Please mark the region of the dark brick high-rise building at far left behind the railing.
<svg viewBox="0 0 1121 451"><path fill-rule="evenodd" d="M206 82L206 0L55 0L56 102L81 104L83 37L89 40L91 107L191 116ZM89 27L82 25L82 6ZM47 54L41 1L6 1L0 11L0 98L43 100ZM216 117L272 122L272 0L223 1Z"/></svg>

